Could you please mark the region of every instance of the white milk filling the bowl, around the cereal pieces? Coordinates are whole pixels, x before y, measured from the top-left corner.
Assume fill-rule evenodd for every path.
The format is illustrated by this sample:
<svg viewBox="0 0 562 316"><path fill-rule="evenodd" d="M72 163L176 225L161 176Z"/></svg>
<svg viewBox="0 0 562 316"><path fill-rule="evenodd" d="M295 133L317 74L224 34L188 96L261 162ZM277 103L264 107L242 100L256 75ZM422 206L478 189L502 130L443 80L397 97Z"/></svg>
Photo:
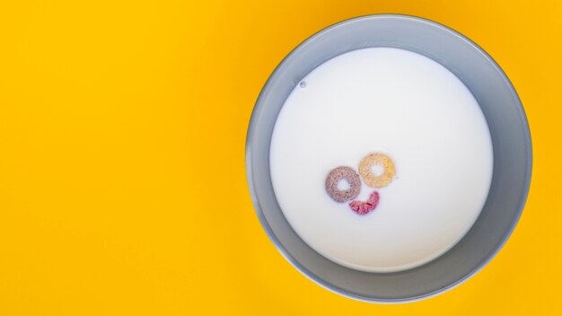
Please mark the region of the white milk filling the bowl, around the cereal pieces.
<svg viewBox="0 0 562 316"><path fill-rule="evenodd" d="M370 153L396 166L380 203L357 215L329 198L338 166ZM365 48L317 67L285 101L271 139L273 187L303 241L349 268L415 268L461 240L492 178L486 120L467 87L435 61L397 48ZM362 180L364 201L374 189Z"/></svg>

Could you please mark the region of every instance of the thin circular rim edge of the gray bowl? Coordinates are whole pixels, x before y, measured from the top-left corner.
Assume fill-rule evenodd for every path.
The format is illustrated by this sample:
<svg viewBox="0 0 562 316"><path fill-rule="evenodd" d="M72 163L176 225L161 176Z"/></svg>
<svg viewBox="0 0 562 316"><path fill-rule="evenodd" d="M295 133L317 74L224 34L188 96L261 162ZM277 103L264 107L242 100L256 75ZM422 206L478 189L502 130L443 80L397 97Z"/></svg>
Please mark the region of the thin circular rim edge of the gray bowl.
<svg viewBox="0 0 562 316"><path fill-rule="evenodd" d="M256 193L255 183L254 183L254 180L253 180L252 159L251 159L251 154L250 154L251 147L252 147L252 139L254 139L254 137L255 137L254 135L256 133L255 127L254 127L255 121L257 119L256 117L257 117L257 112L259 110L259 106L260 106L260 104L262 104L261 100L264 97L263 93L268 90L268 86L271 84L271 78L274 77L275 75L277 75L277 73L285 66L285 62L287 61L287 59L292 57L297 49L303 47L305 44L307 44L307 43L309 43L313 40L316 40L317 38L321 37L322 35L325 35L329 31L332 31L333 29L338 28L339 26L346 25L346 24L349 24L349 23L361 22L361 21L364 21L364 20L380 19L380 18L405 19L405 20L412 20L412 21L416 21L416 22L423 22L423 23L431 24L432 26L437 27L439 29L442 29L443 31L451 32L457 38L467 42L470 45L471 48L479 51L479 53L482 54L483 57L485 57L487 59L490 66L494 67L494 70L496 71L496 73L501 75L504 83L508 86L508 88L510 90L510 94L514 97L514 100L517 103L518 115L519 115L519 118L521 119L522 131L524 132L524 135L525 135L525 139L522 140L522 141L524 143L526 154L527 154L527 157L528 157L528 161L526 162L526 166L525 166L526 168L524 170L524 174L525 174L524 189L522 191L522 195L521 195L520 200L519 200L519 207L518 207L518 210L517 210L516 218L514 218L514 221L511 223L509 229L506 231L502 240L497 244L496 248L487 256L486 259L479 262L479 264L476 267L472 268L468 274L466 274L465 276L461 276L461 278L459 280L457 280L456 282L445 285L444 287L442 287L440 289L437 289L437 290L435 290L433 292L430 292L430 293L420 294L420 295L417 295L417 296L407 297L407 298L391 298L391 299L388 299L388 298L373 298L373 297L368 297L368 296L364 296L364 295L350 293L347 290L342 289L342 288L338 287L337 285L329 284L328 282L323 280L321 277L314 275L310 270L303 267L303 265L297 259L294 259L294 257L291 254L289 254L288 250L285 249L285 246L281 243L281 241L279 241L277 239L277 236L272 231L272 228L268 224L268 220L266 219L266 217L265 217L265 215L262 211L262 207L259 203L257 193ZM437 61L437 62L439 62L439 61ZM519 223L519 221L521 219L522 211L523 211L523 208L526 204L527 198L529 196L529 191L531 189L531 173L532 173L531 130L530 130L530 127L529 127L529 122L528 122L525 110L522 107L521 99L519 98L519 95L515 91L513 83L511 83L511 81L509 80L507 75L505 75L504 70L498 65L496 60L493 57L491 57L486 52L486 50L484 50L483 48L480 48L479 45L476 44L474 41L470 40L468 37L461 34L461 32L455 31L452 28L450 28L450 27L448 27L448 26L446 26L446 25L444 25L440 22L435 22L433 20L422 18L422 17L416 16L416 15L402 14L402 13L366 14L366 15L356 16L356 17L353 17L353 18L350 18L350 19L346 19L346 20L343 20L343 21L340 21L340 22L333 23L333 24L329 25L328 27L322 29L321 31L315 32L314 34L312 34L312 36L308 37L306 40L303 40L296 47L294 47L281 60L281 62L276 66L274 71L268 76L268 79L267 79L266 83L264 84L264 86L261 88L261 90L259 92L258 99L254 104L254 108L253 108L251 116L250 116L250 121L249 121L247 135L246 135L246 143L245 143L245 167L246 167L246 179L247 179L248 187L249 187L249 190L250 190L250 198L251 198L254 210L255 210L256 214L258 215L259 222L262 225L265 232L267 233L269 240L273 242L273 244L275 245L277 250L281 253L281 255L294 268L296 268L304 276L308 277L310 280L312 280L312 282L316 283L317 285L321 285L323 288L328 289L330 292L333 292L333 293L336 293L336 294L339 294L339 295L342 295L342 296L345 296L345 297L348 297L348 298L351 298L351 299L355 299L355 300L366 302L366 303L410 303L410 302L417 302L417 301L424 300L424 299L427 299L427 298L430 298L430 297L434 297L435 295L438 295L438 294L443 294L447 291L452 290L454 287L456 287L458 285L461 285L466 280L468 280L470 277L476 275L482 268L486 267L487 264L492 259L494 259L496 257L497 253L500 250L503 249L503 247L505 246L505 242L514 233L515 226Z"/></svg>

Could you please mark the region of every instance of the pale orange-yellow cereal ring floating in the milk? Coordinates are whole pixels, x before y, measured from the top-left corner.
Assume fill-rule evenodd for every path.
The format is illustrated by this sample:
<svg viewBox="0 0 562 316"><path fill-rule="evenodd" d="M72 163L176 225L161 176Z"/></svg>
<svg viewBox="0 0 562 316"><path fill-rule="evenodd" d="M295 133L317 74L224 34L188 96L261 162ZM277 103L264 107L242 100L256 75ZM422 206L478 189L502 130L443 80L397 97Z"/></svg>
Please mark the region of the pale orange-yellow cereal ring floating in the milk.
<svg viewBox="0 0 562 316"><path fill-rule="evenodd" d="M376 175L371 171L374 165L382 167L381 175ZM394 162L386 154L368 154L359 162L359 174L364 183L371 188L384 188L388 186L391 184L395 173Z"/></svg>

